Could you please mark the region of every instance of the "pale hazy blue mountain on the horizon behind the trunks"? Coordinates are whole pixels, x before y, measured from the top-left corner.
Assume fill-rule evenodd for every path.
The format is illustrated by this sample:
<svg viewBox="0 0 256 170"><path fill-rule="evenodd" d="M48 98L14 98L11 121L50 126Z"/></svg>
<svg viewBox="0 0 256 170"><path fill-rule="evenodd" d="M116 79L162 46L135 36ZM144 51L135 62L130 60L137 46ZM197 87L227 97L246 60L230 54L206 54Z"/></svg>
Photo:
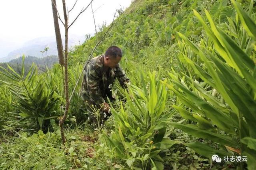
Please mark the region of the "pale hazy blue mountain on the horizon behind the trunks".
<svg viewBox="0 0 256 170"><path fill-rule="evenodd" d="M68 39L69 49L74 47L75 45L82 44L85 40L84 36L78 35L70 35ZM64 38L62 38L62 43L64 46ZM32 39L24 43L20 48L10 52L7 57L0 58L0 62L8 62L12 59L16 59L23 54L25 56L35 56L42 57L42 53L40 51L44 51L45 47L49 47L47 51L48 55L58 55L57 46L56 46L56 38L54 36L51 37L40 37L36 39ZM44 56L46 54L44 53Z"/></svg>

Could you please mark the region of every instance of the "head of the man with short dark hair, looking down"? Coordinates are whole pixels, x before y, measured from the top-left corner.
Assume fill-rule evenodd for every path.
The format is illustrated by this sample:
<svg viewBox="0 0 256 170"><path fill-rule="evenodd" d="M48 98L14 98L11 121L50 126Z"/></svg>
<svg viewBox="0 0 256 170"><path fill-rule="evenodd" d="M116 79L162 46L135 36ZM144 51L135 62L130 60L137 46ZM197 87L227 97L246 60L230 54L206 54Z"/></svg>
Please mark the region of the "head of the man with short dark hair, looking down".
<svg viewBox="0 0 256 170"><path fill-rule="evenodd" d="M113 68L122 59L122 50L119 47L109 47L104 55L104 65Z"/></svg>

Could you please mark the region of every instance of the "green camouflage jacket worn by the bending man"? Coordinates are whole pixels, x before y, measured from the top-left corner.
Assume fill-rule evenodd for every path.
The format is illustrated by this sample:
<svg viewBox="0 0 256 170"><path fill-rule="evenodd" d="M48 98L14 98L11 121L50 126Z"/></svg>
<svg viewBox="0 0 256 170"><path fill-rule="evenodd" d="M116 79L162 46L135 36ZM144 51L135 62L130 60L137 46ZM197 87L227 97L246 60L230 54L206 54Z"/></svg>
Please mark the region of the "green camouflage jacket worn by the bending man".
<svg viewBox="0 0 256 170"><path fill-rule="evenodd" d="M84 69L84 78L82 81L82 98L91 104L100 105L108 98L112 98L109 85L113 84L117 78L123 88L130 84L129 78L124 70L116 64L114 68L109 68L109 74L104 71L104 55L91 59Z"/></svg>

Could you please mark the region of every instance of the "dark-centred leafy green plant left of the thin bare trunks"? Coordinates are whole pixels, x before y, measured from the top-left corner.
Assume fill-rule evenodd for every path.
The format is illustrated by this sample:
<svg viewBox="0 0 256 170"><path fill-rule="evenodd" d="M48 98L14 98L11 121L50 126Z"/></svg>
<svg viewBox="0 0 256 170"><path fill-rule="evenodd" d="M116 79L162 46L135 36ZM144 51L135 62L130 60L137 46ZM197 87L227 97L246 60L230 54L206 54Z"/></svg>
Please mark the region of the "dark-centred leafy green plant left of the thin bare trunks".
<svg viewBox="0 0 256 170"><path fill-rule="evenodd" d="M59 95L54 91L54 81L49 83L43 76L37 74L37 67L32 64L28 74L24 76L24 59L22 59L22 71L18 74L8 66L9 70L0 67L0 74L10 78L10 82L2 81L9 88L17 103L13 103L21 112L18 114L19 121L32 120L36 127L42 129L46 126L45 121L55 121L60 116ZM53 78L51 79L53 80ZM18 123L14 121L13 123ZM48 122L48 124L50 124ZM47 128L47 127L46 127Z"/></svg>

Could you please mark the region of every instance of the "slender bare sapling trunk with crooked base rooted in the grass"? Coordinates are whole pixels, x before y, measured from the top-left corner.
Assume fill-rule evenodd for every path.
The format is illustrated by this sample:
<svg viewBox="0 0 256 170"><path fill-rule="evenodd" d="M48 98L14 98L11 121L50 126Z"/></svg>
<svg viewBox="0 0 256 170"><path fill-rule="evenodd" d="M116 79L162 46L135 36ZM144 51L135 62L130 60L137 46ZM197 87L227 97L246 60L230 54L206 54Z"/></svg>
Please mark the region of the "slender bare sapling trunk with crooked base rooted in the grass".
<svg viewBox="0 0 256 170"><path fill-rule="evenodd" d="M64 136L64 128L63 124L66 120L68 115L68 109L70 106L69 97L68 97L68 16L66 12L66 2L62 0L63 4L63 13L64 13L64 20L65 20L65 99L66 99L66 108L62 119L60 120L60 134L63 145L65 145L66 139Z"/></svg>

